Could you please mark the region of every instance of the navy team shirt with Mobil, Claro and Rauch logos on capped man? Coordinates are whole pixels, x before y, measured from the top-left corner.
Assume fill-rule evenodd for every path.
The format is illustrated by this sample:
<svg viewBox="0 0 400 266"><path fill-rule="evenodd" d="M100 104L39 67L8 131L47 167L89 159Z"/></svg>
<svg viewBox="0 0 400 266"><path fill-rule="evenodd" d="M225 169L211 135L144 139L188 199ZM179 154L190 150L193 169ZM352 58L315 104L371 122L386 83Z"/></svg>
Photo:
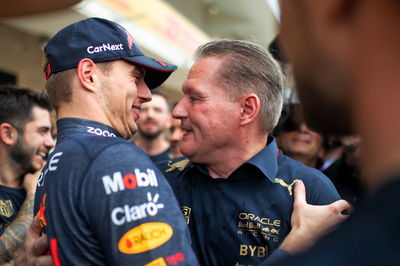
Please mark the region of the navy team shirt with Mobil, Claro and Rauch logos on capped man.
<svg viewBox="0 0 400 266"><path fill-rule="evenodd" d="M141 149L94 121L57 129L35 198L55 265L197 265L173 191Z"/></svg>

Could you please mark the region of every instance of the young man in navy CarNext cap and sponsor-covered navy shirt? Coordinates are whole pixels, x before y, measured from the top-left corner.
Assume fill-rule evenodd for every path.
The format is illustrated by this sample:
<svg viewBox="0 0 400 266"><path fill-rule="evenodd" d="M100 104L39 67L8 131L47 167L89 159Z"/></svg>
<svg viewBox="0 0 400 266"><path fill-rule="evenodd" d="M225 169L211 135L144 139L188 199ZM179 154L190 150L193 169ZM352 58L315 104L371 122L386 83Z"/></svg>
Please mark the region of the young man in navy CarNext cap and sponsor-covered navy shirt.
<svg viewBox="0 0 400 266"><path fill-rule="evenodd" d="M175 66L145 56L120 25L89 18L44 48L57 145L38 181L55 265L196 265L172 189L128 139L141 104Z"/></svg>

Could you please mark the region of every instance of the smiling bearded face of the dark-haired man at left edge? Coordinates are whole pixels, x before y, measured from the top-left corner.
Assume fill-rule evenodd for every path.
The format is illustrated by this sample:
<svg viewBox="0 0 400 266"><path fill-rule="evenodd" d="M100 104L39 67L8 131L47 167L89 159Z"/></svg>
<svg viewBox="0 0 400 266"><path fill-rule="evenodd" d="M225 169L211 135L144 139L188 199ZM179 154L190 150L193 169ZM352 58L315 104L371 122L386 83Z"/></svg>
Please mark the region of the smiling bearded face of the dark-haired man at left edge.
<svg viewBox="0 0 400 266"><path fill-rule="evenodd" d="M34 106L33 120L26 123L24 133L18 135L17 142L10 150L10 157L24 172L33 173L42 168L54 140L51 136L50 113Z"/></svg>

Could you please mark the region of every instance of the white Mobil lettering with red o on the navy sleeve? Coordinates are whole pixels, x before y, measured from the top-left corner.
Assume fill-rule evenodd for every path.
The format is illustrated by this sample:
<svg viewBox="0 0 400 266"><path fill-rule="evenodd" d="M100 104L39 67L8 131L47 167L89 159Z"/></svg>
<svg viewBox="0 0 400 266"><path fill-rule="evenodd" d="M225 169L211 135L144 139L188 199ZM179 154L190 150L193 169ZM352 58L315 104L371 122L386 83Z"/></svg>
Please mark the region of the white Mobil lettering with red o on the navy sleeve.
<svg viewBox="0 0 400 266"><path fill-rule="evenodd" d="M152 169L146 169L146 172L141 172L136 168L134 174L128 173L125 175L122 175L121 172L115 172L112 177L106 175L101 179L107 195L136 187L158 187L156 173Z"/></svg>

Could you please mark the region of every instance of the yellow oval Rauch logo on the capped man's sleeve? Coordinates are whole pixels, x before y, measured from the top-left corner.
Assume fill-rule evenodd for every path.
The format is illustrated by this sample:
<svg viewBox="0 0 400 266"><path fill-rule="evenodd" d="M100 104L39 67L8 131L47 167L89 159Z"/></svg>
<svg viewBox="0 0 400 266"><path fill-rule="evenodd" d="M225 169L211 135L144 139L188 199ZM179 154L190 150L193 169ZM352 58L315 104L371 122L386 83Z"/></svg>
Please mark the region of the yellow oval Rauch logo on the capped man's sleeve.
<svg viewBox="0 0 400 266"><path fill-rule="evenodd" d="M145 223L126 232L118 243L118 249L124 254L137 254L155 249L167 242L174 231L166 223Z"/></svg>

